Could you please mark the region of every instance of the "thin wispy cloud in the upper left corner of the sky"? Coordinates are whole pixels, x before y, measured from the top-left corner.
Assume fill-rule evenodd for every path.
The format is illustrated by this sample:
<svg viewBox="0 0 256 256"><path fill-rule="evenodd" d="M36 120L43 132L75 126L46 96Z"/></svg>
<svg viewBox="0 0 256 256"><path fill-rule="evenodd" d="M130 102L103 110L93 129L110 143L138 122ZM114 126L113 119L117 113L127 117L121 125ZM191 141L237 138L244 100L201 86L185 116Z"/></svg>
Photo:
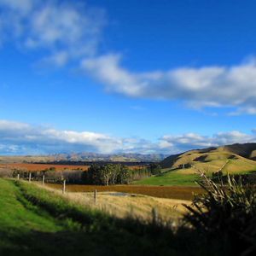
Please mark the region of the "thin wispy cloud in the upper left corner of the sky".
<svg viewBox="0 0 256 256"><path fill-rule="evenodd" d="M82 1L0 0L0 9L3 43L44 49L47 61L57 66L95 55L105 25L103 10Z"/></svg>

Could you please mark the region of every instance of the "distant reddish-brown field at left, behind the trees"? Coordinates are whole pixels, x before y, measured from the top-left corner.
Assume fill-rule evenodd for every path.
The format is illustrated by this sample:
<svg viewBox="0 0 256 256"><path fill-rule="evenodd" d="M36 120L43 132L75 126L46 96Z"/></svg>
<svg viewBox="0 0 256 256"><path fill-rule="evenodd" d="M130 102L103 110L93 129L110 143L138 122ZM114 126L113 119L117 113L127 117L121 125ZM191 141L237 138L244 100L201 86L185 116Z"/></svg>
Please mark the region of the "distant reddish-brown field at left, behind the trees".
<svg viewBox="0 0 256 256"><path fill-rule="evenodd" d="M0 167L18 169L22 171L29 172L38 172L44 171L45 169L55 167L55 171L64 171L64 170L77 170L82 169L87 171L89 166L64 166L64 165L48 165L48 164L27 164L27 163L12 163L12 164L0 164Z"/></svg>

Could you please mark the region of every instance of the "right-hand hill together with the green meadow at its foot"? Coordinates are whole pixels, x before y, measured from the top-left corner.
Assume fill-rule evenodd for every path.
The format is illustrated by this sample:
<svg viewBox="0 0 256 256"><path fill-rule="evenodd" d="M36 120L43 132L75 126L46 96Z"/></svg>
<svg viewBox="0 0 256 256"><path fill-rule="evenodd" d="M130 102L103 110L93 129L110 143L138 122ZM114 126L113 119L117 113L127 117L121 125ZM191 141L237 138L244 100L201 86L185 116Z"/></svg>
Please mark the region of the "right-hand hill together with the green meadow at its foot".
<svg viewBox="0 0 256 256"><path fill-rule="evenodd" d="M152 185L195 185L196 173L230 174L256 171L256 143L233 144L218 148L189 150L160 162L162 173L136 182Z"/></svg>

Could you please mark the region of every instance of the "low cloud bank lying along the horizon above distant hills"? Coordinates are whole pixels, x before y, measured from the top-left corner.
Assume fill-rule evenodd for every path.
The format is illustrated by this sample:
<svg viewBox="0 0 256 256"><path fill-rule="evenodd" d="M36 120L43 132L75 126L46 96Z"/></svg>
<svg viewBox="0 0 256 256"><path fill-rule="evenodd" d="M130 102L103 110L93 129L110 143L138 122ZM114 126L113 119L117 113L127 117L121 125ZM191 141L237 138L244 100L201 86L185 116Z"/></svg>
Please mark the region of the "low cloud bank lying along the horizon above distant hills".
<svg viewBox="0 0 256 256"><path fill-rule="evenodd" d="M177 154L193 148L256 142L256 130L220 132L211 137L196 133L165 135L156 142L144 138L113 137L93 131L54 128L0 120L0 154L56 154L71 152Z"/></svg>

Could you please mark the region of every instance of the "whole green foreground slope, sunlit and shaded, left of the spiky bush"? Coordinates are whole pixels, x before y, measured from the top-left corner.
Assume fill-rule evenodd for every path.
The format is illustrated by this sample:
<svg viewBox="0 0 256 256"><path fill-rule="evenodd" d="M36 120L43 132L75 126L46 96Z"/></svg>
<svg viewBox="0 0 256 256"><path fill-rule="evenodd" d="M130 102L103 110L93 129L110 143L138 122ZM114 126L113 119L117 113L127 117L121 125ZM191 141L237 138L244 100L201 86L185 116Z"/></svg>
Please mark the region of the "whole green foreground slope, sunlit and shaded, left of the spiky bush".
<svg viewBox="0 0 256 256"><path fill-rule="evenodd" d="M75 205L36 185L0 179L0 255L184 255L172 230Z"/></svg>

